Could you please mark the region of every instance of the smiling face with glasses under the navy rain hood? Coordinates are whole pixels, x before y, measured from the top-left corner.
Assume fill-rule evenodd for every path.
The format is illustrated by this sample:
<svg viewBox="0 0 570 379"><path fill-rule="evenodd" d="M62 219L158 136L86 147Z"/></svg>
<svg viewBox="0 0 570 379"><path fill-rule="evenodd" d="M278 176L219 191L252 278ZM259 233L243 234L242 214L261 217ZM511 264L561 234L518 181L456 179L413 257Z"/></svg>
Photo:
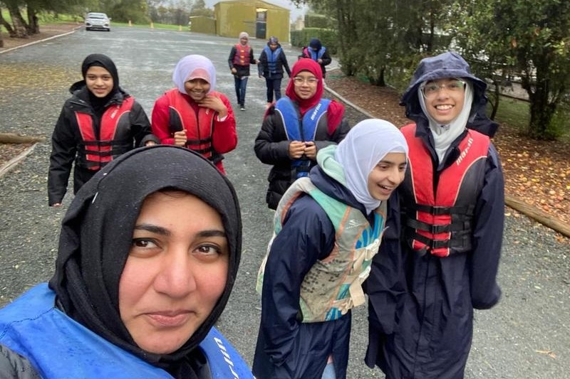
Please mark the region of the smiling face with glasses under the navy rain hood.
<svg viewBox="0 0 570 379"><path fill-rule="evenodd" d="M463 109L465 102L465 87L456 88L457 78L432 80L426 83L440 86L438 90L427 93L424 90L425 108L438 124L450 124ZM443 87L441 87L443 86Z"/></svg>

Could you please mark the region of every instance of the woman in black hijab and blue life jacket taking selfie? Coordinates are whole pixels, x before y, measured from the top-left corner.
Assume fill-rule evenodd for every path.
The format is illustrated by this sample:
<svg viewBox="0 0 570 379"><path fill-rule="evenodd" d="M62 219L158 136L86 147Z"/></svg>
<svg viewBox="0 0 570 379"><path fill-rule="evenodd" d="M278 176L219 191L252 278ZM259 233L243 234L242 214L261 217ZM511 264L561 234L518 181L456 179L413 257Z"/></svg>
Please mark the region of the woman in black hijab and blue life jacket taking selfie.
<svg viewBox="0 0 570 379"><path fill-rule="evenodd" d="M0 377L253 378L214 328L241 244L236 193L207 159L123 154L73 199L49 283L0 309Z"/></svg>

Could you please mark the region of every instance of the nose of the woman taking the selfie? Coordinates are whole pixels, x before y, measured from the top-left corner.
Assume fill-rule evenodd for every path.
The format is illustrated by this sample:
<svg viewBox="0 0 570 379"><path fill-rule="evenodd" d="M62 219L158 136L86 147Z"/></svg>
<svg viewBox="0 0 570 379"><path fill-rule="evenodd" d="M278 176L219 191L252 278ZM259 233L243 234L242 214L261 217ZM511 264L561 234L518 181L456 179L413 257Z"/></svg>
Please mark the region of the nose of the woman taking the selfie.
<svg viewBox="0 0 570 379"><path fill-rule="evenodd" d="M171 248L162 260L155 277L155 290L168 297L181 298L196 289L192 259L185 248Z"/></svg>

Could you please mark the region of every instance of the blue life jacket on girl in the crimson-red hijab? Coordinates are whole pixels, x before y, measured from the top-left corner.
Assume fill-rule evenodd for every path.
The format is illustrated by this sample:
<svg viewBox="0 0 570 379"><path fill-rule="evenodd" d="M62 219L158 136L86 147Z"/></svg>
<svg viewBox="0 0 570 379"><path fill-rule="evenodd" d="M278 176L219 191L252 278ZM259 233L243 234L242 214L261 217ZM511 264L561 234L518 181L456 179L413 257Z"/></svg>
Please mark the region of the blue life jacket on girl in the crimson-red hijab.
<svg viewBox="0 0 570 379"><path fill-rule="evenodd" d="M289 97L284 96L277 100L275 110L283 120L287 139L289 141L302 142L314 141L318 122L326 114L329 104L331 104L331 100L319 100L317 105L308 110L303 119L299 120L297 106ZM294 171L296 178L309 176L311 160L302 157L294 159L291 163L291 169Z"/></svg>

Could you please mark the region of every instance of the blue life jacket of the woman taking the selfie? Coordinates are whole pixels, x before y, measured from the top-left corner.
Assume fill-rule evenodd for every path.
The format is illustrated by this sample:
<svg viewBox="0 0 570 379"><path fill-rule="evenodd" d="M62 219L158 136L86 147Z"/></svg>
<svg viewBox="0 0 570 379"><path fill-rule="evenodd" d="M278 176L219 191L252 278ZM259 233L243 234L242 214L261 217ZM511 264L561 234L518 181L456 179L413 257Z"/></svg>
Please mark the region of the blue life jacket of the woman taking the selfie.
<svg viewBox="0 0 570 379"><path fill-rule="evenodd" d="M54 306L56 294L38 284L0 310L0 343L30 361L42 378L170 378L162 368L123 350ZM253 375L212 328L200 343L214 379Z"/></svg>

